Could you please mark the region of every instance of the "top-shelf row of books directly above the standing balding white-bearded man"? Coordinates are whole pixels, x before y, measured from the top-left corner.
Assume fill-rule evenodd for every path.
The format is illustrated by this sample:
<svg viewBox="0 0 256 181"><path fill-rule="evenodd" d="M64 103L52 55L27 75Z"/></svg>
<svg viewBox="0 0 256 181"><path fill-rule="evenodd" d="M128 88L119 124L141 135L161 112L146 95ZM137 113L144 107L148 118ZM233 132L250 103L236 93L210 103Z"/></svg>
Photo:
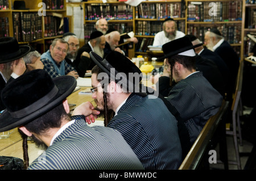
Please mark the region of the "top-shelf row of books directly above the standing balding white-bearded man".
<svg viewBox="0 0 256 181"><path fill-rule="evenodd" d="M107 20L129 20L133 19L133 7L130 5L104 5L92 3L85 6L85 20L97 20L105 18Z"/></svg>

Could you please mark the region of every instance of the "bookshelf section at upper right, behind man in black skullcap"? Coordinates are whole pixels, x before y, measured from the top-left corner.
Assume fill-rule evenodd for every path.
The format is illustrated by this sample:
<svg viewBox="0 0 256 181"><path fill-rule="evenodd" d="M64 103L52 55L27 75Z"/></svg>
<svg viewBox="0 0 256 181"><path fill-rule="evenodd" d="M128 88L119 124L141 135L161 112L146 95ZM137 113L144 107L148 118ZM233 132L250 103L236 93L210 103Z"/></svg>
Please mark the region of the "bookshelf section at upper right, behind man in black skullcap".
<svg viewBox="0 0 256 181"><path fill-rule="evenodd" d="M204 32L217 28L243 58L243 0L187 1L187 34L204 42Z"/></svg>

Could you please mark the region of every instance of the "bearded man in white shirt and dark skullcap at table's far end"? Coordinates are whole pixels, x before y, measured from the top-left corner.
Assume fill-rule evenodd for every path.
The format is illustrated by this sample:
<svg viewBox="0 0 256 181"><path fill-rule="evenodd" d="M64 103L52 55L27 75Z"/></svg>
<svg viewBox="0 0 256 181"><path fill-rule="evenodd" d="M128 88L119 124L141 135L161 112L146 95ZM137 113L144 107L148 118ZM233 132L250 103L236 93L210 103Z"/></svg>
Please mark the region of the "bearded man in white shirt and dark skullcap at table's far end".
<svg viewBox="0 0 256 181"><path fill-rule="evenodd" d="M163 22L163 31L156 33L153 46L162 46L169 41L179 39L185 36L185 33L177 30L177 24L172 18L167 18Z"/></svg>

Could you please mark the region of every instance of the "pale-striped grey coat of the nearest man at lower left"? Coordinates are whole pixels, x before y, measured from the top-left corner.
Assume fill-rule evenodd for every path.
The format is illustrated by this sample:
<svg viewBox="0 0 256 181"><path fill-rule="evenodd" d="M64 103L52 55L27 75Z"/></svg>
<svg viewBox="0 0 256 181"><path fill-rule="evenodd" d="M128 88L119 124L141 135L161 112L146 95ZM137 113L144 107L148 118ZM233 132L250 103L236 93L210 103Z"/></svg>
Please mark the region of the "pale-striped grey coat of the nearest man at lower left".
<svg viewBox="0 0 256 181"><path fill-rule="evenodd" d="M73 116L75 117L75 116ZM121 134L114 129L88 127L77 119L35 159L29 170L144 169Z"/></svg>

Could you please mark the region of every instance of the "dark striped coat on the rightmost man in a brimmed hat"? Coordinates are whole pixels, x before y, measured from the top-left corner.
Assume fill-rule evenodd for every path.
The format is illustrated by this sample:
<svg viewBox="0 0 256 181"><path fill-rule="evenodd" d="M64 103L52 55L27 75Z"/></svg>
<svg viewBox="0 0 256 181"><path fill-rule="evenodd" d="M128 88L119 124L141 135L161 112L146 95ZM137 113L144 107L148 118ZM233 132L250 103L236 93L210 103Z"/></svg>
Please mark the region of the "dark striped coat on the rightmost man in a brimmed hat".
<svg viewBox="0 0 256 181"><path fill-rule="evenodd" d="M200 71L179 81L167 97L185 120L191 144L195 142L210 116L218 112L222 99L220 93Z"/></svg>

